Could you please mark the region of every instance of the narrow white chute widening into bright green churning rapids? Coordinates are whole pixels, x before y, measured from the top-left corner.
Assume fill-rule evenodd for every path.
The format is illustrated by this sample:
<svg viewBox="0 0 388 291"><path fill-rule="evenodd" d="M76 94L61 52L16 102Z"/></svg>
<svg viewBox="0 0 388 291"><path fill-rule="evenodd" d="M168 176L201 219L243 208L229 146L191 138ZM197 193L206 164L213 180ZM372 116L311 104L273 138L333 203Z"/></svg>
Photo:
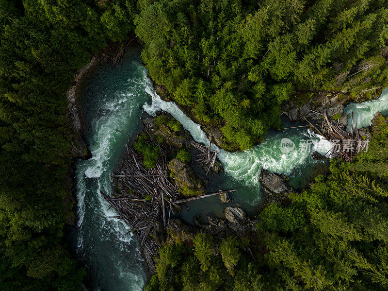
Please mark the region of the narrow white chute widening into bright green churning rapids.
<svg viewBox="0 0 388 291"><path fill-rule="evenodd" d="M152 103L144 105L144 110L148 114L155 115L156 111L162 109L182 123L196 142L209 144L209 140L200 125L190 120L176 103L163 101L153 90L150 81L146 87L146 92L152 96ZM327 154L332 148L329 141L316 135L311 130L299 130L298 133L300 133L300 136L290 137L287 132L278 132L275 135L267 136L265 141L244 152L229 153L214 144L211 144L211 148L220 152L217 157L229 176L237 181L243 181L249 187L259 188L261 169L290 174L294 168L303 166L307 161L313 162L311 159L312 151L316 150L321 154ZM311 151L294 150L289 153L282 153L280 150L282 137L292 138L296 145L299 145L301 140L311 140Z"/></svg>

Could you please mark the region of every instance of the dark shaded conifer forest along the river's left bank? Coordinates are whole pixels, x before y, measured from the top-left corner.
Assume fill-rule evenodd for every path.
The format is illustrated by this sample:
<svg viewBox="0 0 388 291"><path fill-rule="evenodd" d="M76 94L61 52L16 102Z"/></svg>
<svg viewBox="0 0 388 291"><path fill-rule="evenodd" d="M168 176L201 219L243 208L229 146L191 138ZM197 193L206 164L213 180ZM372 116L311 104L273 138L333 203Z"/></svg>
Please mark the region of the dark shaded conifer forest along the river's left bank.
<svg viewBox="0 0 388 291"><path fill-rule="evenodd" d="M108 38L128 37L133 3L0 0L1 290L81 290L63 240L74 216L66 91Z"/></svg>

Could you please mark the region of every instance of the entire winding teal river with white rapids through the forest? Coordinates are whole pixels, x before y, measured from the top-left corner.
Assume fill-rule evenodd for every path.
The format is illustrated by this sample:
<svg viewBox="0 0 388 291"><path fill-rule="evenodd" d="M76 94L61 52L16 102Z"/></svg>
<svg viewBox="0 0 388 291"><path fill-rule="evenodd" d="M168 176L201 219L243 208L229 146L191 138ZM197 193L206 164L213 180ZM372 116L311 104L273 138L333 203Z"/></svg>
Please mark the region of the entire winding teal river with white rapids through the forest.
<svg viewBox="0 0 388 291"><path fill-rule="evenodd" d="M196 141L208 144L199 125L187 118L176 104L162 101L153 91L146 68L141 64L140 51L140 47L132 47L123 64L113 69L109 62L100 64L82 87L81 111L92 158L79 160L75 165L78 228L72 231L71 242L86 265L88 281L93 282L90 285L99 291L137 291L143 290L146 284L146 264L141 256L135 259L138 241L130 234L117 239L129 228L114 218L117 214L108 209L109 205L99 194L100 191L110 193L110 175L123 153L124 143L139 132L143 109L149 114L158 109L171 113ZM384 96L388 96L387 91ZM386 106L388 110L388 102L372 101L368 108L373 106ZM357 116L363 116L363 108L354 108ZM296 150L283 153L280 149L283 138L291 140ZM225 173L214 178L208 190L237 188L232 196L233 204L254 213L262 196L258 180L260 169L283 172L291 177L291 184L298 187L327 163L312 159L311 151L297 150L308 140L323 154L330 147L306 128L270 131L264 142L242 153L227 153L213 145L221 152L219 158ZM182 218L191 222L198 214L203 217L210 212L223 215L225 205L221 205L217 197L206 200L206 203L198 200L189 204L190 210L183 209Z"/></svg>

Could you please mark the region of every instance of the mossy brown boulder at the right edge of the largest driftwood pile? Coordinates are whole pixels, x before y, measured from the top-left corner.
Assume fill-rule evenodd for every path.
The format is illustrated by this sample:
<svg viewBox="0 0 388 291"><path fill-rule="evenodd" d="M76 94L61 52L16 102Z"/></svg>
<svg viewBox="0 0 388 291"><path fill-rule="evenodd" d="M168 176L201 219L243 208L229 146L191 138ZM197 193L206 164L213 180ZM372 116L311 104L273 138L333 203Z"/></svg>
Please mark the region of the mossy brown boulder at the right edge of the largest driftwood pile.
<svg viewBox="0 0 388 291"><path fill-rule="evenodd" d="M174 158L168 163L167 167L183 195L201 196L206 194L207 179L204 177L200 179L189 165L178 158Z"/></svg>

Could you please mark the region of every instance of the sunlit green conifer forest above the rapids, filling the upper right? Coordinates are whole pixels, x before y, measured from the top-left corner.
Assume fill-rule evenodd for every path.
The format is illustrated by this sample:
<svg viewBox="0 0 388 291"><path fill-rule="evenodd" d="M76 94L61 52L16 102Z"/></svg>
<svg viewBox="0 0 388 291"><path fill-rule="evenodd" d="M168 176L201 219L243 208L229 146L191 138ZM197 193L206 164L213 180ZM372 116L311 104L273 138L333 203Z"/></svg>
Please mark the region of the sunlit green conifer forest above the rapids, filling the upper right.
<svg viewBox="0 0 388 291"><path fill-rule="evenodd" d="M139 9L150 76L200 120L224 126L225 147L250 148L278 127L295 91L388 86L382 0L141 0Z"/></svg>

